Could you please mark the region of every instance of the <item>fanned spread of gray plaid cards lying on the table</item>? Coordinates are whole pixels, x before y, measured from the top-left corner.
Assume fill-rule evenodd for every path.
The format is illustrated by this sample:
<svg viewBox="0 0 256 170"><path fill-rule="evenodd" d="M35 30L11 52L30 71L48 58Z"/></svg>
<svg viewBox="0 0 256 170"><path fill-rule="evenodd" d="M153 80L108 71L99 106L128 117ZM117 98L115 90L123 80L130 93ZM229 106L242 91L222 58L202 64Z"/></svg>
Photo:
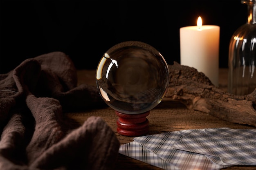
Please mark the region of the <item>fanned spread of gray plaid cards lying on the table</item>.
<svg viewBox="0 0 256 170"><path fill-rule="evenodd" d="M119 153L165 170L256 165L256 129L209 128L135 137Z"/></svg>

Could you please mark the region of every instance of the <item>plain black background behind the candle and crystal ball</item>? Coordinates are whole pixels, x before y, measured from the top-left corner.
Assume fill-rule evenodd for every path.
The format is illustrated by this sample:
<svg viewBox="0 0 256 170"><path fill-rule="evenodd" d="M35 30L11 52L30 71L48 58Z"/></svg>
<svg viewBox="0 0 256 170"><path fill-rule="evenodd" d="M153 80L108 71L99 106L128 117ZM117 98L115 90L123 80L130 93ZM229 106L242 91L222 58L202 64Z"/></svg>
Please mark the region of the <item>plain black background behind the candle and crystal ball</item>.
<svg viewBox="0 0 256 170"><path fill-rule="evenodd" d="M220 67L227 68L231 35L247 21L240 0L1 0L0 73L27 58L62 51L77 69L96 69L119 42L155 47L180 63L180 27L220 26Z"/></svg>

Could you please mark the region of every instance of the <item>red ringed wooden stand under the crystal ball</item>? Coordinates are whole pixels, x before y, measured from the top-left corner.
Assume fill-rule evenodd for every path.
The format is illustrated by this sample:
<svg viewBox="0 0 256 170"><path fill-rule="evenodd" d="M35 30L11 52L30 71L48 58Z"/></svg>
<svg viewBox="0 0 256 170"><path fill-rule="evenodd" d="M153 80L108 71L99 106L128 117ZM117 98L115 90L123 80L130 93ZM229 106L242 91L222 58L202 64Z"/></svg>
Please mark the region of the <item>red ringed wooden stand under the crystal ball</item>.
<svg viewBox="0 0 256 170"><path fill-rule="evenodd" d="M124 114L115 111L117 119L117 132L124 136L141 136L148 132L149 111L141 114Z"/></svg>

